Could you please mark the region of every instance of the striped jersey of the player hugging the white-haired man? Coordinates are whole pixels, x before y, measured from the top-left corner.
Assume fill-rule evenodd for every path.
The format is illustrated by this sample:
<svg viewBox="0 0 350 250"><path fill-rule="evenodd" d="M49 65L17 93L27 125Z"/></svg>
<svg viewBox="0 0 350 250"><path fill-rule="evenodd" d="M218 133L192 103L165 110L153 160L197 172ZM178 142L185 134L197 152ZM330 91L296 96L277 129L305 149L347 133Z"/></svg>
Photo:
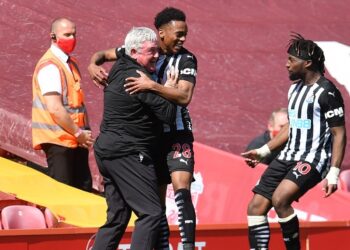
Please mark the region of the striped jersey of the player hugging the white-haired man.
<svg viewBox="0 0 350 250"><path fill-rule="evenodd" d="M157 78L158 82L164 84L167 80L166 72L171 66L179 71L179 80L185 80L196 84L197 76L197 59L196 57L182 48L175 55L160 55L157 61ZM164 132L186 131L192 132L192 122L190 114L186 107L177 106L175 123L172 125L164 124Z"/></svg>

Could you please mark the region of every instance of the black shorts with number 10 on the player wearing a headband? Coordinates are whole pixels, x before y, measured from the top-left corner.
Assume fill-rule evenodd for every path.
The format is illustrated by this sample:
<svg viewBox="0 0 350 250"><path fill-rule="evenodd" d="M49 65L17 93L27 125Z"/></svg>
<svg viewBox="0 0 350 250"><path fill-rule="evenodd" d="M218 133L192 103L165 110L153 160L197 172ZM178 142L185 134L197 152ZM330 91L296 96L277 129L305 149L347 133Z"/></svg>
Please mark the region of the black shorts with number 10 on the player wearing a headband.
<svg viewBox="0 0 350 250"><path fill-rule="evenodd" d="M265 170L253 192L271 200L277 186L284 179L294 182L300 188L298 198L322 180L316 167L309 162L275 159Z"/></svg>

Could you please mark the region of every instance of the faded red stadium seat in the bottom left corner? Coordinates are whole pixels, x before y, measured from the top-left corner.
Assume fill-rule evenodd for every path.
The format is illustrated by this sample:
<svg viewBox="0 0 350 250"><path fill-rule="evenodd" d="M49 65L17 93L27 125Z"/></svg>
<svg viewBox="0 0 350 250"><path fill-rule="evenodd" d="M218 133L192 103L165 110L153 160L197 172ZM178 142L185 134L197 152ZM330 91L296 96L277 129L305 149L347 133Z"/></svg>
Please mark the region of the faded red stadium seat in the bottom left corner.
<svg viewBox="0 0 350 250"><path fill-rule="evenodd" d="M1 221L4 229L46 228L45 217L40 209L26 205L13 205L3 208Z"/></svg>

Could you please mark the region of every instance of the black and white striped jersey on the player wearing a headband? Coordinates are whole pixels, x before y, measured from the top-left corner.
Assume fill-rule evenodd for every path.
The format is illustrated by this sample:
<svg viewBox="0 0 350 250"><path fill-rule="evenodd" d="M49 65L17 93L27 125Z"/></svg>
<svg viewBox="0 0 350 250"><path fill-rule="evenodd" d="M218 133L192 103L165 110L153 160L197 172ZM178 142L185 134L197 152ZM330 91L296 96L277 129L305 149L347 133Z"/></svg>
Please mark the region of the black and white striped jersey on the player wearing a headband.
<svg viewBox="0 0 350 250"><path fill-rule="evenodd" d="M312 85L298 81L288 92L288 118L289 139L278 159L304 160L324 174L332 153L330 128L345 124L341 93L324 77Z"/></svg>

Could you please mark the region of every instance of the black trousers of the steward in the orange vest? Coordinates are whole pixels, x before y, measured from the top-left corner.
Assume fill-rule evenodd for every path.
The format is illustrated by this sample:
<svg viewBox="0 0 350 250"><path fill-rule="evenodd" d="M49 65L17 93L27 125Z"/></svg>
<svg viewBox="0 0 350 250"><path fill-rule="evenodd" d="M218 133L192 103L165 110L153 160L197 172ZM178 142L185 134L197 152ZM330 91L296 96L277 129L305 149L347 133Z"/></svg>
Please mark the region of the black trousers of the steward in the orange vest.
<svg viewBox="0 0 350 250"><path fill-rule="evenodd" d="M89 150L67 148L56 144L42 144L48 164L48 175L59 182L85 190L92 190Z"/></svg>

